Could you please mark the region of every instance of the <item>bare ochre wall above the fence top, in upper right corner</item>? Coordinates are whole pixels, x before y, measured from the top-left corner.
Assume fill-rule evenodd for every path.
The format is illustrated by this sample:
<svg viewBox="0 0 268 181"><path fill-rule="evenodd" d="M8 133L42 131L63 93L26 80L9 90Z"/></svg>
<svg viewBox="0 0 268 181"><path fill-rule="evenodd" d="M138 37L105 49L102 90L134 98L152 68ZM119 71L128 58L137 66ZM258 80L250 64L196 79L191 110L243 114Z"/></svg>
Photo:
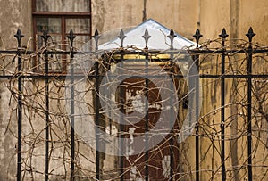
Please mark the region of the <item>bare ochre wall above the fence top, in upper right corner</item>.
<svg viewBox="0 0 268 181"><path fill-rule="evenodd" d="M217 38L222 28L229 38L246 39L245 34L252 27L257 34L255 42L266 44L268 28L267 1L210 1L200 0L200 30L204 37L201 40Z"/></svg>

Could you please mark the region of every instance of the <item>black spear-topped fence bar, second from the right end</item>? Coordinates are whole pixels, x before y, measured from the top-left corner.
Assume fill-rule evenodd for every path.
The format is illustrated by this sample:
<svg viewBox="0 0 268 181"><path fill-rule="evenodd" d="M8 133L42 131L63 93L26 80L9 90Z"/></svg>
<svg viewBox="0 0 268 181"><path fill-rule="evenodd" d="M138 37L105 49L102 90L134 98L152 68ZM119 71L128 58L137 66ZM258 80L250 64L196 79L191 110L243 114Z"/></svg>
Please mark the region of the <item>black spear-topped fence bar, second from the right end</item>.
<svg viewBox="0 0 268 181"><path fill-rule="evenodd" d="M222 49L225 50L225 38L228 37L226 30L222 29ZM222 53L222 78L221 78L221 167L222 167L222 181L226 180L225 170L225 54Z"/></svg>

